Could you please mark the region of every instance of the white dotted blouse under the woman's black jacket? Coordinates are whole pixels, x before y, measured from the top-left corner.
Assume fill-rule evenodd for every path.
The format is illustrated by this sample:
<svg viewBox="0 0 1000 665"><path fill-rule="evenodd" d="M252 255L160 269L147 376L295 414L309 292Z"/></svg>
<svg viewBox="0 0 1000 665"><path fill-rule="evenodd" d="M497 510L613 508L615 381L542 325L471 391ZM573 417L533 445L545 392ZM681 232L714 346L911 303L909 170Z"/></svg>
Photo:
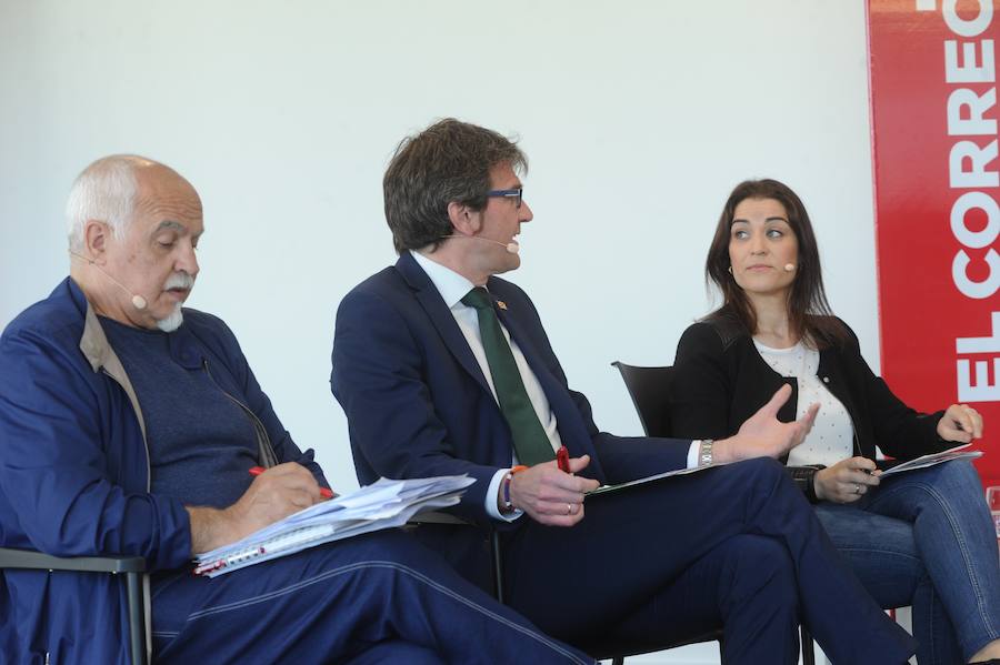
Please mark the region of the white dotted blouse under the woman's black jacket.
<svg viewBox="0 0 1000 665"><path fill-rule="evenodd" d="M833 464L850 457L854 453L854 427L851 416L843 404L833 396L820 377L819 351L810 349L800 341L789 349L771 349L753 340L757 352L772 370L799 383L797 419L806 415L810 404L819 403L812 431L788 455L789 466L807 464Z"/></svg>

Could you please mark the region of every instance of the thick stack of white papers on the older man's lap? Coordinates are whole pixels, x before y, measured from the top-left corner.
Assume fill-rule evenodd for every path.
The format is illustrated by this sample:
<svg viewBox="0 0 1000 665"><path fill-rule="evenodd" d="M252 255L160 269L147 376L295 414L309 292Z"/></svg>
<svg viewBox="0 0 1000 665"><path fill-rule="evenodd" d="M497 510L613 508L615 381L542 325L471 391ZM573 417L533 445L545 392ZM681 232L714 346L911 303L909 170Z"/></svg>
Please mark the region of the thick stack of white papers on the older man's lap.
<svg viewBox="0 0 1000 665"><path fill-rule="evenodd" d="M214 577L262 561L362 533L402 526L417 513L454 505L474 483L467 475L378 482L324 501L266 526L246 538L206 552L194 574Z"/></svg>

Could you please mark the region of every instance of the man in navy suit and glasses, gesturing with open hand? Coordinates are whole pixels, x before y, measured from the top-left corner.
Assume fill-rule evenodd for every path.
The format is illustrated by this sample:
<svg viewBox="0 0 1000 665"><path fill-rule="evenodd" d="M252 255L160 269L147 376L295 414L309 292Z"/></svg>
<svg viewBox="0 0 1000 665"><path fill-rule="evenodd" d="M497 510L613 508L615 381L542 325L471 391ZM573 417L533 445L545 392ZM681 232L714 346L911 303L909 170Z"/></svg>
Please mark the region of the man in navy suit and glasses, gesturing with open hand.
<svg viewBox="0 0 1000 665"><path fill-rule="evenodd" d="M726 441L598 431L534 305L496 276L520 265L516 236L532 219L524 167L504 137L451 119L392 159L386 216L400 258L343 299L333 343L360 481L474 477L457 512L501 531L508 602L573 644L640 649L721 625L727 663L796 663L801 613L837 663L903 663L911 638L773 460L814 410L779 423L783 389ZM554 460L563 446L566 471ZM587 495L711 462L739 463ZM482 580L476 530L419 531Z"/></svg>

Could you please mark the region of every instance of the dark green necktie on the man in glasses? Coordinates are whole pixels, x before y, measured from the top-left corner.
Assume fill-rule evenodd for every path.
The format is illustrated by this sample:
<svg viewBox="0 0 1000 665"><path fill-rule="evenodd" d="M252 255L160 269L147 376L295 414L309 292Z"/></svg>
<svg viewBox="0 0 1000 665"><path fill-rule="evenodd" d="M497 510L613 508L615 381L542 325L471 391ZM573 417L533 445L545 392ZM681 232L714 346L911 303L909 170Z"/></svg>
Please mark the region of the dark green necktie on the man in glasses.
<svg viewBox="0 0 1000 665"><path fill-rule="evenodd" d="M500 402L500 412L510 425L513 436L514 452L518 462L532 466L541 462L556 459L552 443L549 441L544 429L538 421L534 406L524 390L524 382L518 371L510 344L503 336L497 312L493 311L493 301L482 286L477 286L466 294L462 303L476 308L479 314L479 333L482 336L482 347L486 350L487 363L490 365L490 374L493 377L493 387L497 391L497 401Z"/></svg>

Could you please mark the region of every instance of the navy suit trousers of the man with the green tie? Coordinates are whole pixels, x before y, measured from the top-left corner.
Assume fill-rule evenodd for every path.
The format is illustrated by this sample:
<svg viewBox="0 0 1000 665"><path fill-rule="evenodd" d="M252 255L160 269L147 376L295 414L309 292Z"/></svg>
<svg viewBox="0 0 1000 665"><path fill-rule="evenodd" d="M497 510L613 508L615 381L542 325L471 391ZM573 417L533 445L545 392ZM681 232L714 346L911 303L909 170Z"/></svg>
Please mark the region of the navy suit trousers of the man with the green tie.
<svg viewBox="0 0 1000 665"><path fill-rule="evenodd" d="M793 664L801 615L838 664L899 665L916 649L773 460L597 495L576 526L529 521L507 541L511 606L584 647L722 626L727 665Z"/></svg>

